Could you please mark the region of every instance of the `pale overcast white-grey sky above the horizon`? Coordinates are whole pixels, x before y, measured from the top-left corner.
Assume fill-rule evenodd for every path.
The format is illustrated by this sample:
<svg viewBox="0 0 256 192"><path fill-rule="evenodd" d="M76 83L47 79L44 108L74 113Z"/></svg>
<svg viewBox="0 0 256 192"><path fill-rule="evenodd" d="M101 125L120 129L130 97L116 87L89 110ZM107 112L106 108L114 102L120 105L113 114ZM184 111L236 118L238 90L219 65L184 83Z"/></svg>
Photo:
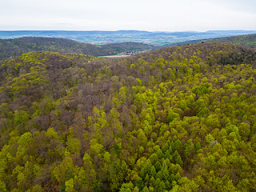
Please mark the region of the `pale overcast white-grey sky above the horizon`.
<svg viewBox="0 0 256 192"><path fill-rule="evenodd" d="M256 30L256 0L1 0L0 30Z"/></svg>

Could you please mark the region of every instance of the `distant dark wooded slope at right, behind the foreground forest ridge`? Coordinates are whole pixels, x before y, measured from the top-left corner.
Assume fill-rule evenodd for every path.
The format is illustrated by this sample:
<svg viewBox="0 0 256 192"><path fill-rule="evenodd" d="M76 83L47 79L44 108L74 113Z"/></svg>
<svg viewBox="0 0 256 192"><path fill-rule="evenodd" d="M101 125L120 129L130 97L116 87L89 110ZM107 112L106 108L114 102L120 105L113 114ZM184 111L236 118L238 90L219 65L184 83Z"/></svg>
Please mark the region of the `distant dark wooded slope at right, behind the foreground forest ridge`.
<svg viewBox="0 0 256 192"><path fill-rule="evenodd" d="M256 34L246 34L226 38L210 38L210 39L200 39L192 40L186 42L176 42L171 43L167 46L181 46L186 44L193 44L198 42L227 42L236 46L246 46L250 48L256 48Z"/></svg>

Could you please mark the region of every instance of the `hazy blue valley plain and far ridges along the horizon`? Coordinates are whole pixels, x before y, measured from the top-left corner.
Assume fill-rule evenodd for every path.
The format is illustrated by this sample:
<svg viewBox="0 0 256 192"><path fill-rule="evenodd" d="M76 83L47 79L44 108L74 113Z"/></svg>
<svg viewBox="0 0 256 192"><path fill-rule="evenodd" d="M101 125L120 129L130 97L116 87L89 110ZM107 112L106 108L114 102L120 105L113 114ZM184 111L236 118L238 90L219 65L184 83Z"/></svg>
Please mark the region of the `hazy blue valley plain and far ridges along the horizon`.
<svg viewBox="0 0 256 192"><path fill-rule="evenodd" d="M20 37L49 37L69 38L77 42L92 44L106 44L114 42L143 42L157 46L203 38L221 38L242 34L255 34L255 30L210 30L206 32L197 31L140 31L140 30L118 30L118 31L64 31L64 30L27 30L27 31L0 31L0 38Z"/></svg>

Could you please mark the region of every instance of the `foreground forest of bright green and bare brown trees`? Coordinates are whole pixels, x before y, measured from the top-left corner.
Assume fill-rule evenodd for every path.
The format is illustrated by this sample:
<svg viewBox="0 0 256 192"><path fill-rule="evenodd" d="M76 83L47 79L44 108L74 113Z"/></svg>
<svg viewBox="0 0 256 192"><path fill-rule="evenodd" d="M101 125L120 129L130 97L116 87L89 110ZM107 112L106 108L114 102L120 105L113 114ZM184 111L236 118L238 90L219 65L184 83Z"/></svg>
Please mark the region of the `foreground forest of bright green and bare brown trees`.
<svg viewBox="0 0 256 192"><path fill-rule="evenodd" d="M256 50L0 62L0 191L255 191Z"/></svg>

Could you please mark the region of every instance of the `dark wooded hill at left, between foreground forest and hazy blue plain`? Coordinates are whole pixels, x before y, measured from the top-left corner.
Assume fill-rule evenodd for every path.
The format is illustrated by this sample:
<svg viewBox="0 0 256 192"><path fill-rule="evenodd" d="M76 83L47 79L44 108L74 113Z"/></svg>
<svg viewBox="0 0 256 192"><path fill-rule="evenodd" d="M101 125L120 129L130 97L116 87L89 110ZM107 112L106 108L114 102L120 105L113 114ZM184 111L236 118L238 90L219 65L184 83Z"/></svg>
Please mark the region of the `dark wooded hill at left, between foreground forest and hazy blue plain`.
<svg viewBox="0 0 256 192"><path fill-rule="evenodd" d="M84 42L75 42L66 38L0 39L0 60L26 54L30 51L53 51L102 56L121 52L153 50L156 48L156 46L139 42L120 42L97 46Z"/></svg>

